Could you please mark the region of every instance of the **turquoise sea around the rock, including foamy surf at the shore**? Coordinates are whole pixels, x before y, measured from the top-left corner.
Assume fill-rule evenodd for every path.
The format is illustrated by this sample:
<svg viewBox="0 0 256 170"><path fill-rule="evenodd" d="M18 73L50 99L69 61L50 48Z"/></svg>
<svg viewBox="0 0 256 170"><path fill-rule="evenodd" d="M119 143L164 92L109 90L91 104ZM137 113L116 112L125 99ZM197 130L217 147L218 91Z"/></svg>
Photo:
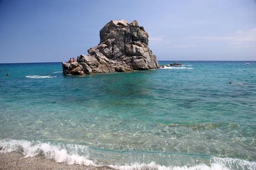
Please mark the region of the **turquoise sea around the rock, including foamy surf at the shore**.
<svg viewBox="0 0 256 170"><path fill-rule="evenodd" d="M256 169L247 62L85 76L63 75L62 63L0 64L0 152L115 169Z"/></svg>

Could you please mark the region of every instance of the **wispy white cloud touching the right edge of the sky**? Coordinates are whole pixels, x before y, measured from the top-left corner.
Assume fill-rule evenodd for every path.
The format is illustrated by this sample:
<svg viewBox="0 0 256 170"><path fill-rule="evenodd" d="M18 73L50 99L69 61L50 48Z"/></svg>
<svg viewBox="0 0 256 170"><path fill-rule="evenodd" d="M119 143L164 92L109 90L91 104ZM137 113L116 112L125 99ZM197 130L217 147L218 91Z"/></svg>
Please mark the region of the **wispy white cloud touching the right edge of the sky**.
<svg viewBox="0 0 256 170"><path fill-rule="evenodd" d="M229 36L218 36L218 37L193 36L189 38L204 39L206 41L225 41L232 46L255 47L256 46L256 28L250 29L248 31L237 31L233 34L230 34Z"/></svg>

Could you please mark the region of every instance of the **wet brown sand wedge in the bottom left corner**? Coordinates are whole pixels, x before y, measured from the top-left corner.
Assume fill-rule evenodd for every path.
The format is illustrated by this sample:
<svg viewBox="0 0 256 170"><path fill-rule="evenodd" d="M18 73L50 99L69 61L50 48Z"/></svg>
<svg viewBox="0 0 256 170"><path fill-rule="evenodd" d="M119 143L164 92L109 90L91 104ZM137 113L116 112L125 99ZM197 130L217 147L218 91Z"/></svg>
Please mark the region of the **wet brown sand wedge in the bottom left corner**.
<svg viewBox="0 0 256 170"><path fill-rule="evenodd" d="M0 169L112 169L107 166L89 167L78 164L68 165L66 163L54 162L39 156L33 158L23 158L22 154L0 153Z"/></svg>

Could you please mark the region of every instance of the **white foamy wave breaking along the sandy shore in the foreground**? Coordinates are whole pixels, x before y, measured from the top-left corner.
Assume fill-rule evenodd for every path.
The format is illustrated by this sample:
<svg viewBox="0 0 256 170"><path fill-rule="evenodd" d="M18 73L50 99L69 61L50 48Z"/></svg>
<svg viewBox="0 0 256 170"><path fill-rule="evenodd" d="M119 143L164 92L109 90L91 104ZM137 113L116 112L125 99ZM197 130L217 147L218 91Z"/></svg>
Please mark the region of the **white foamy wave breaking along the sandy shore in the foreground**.
<svg viewBox="0 0 256 170"><path fill-rule="evenodd" d="M82 146L78 144L64 144L64 143L43 143L40 141L29 142L25 140L14 140L14 139L3 139L0 140L0 153L10 153L10 152L19 152L22 153L25 158L27 157L35 157L42 156L46 159L53 159L56 162L65 162L67 164L82 164L85 166L93 166L93 167L102 167L107 166L114 169L125 169L125 170L135 170L135 169L188 169L188 170L215 170L215 169L256 169L256 162L245 161L243 159L235 159L235 158L219 158L219 157L210 157L208 163L199 162L198 164L186 164L186 165L172 165L164 166L159 163L155 163L154 159L151 162L140 162L137 158L136 161L130 163L100 163L100 158L103 152L111 152L110 155L114 157L114 159L120 159L129 157L130 159L133 155L131 153L125 154L125 152L121 151L111 151L99 149L100 154L98 154L97 159L91 156L90 149L95 149L93 147ZM117 153L115 153L117 152ZM138 151L142 152L142 151ZM146 151L144 152L146 153ZM119 154L119 155L117 155ZM122 156L121 156L122 154ZM175 154L175 153L174 153ZM164 152L157 155L163 156ZM145 156L145 155L144 155ZM178 153L171 157L172 159L179 156ZM193 154L186 155L190 159L193 157ZM168 157L168 154L165 155ZM169 154L170 157L170 154ZM179 158L178 158L179 160ZM195 159L194 162L198 160Z"/></svg>

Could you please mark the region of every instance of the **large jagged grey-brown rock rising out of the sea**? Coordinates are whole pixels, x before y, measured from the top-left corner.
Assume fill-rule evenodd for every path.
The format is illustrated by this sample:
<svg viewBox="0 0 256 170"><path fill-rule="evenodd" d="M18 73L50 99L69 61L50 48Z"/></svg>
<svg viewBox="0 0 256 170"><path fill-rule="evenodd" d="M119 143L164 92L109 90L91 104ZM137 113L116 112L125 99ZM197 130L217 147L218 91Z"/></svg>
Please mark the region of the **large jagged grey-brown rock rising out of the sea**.
<svg viewBox="0 0 256 170"><path fill-rule="evenodd" d="M100 31L100 44L77 62L62 63L65 74L127 72L159 68L149 49L149 35L137 21L110 21Z"/></svg>

